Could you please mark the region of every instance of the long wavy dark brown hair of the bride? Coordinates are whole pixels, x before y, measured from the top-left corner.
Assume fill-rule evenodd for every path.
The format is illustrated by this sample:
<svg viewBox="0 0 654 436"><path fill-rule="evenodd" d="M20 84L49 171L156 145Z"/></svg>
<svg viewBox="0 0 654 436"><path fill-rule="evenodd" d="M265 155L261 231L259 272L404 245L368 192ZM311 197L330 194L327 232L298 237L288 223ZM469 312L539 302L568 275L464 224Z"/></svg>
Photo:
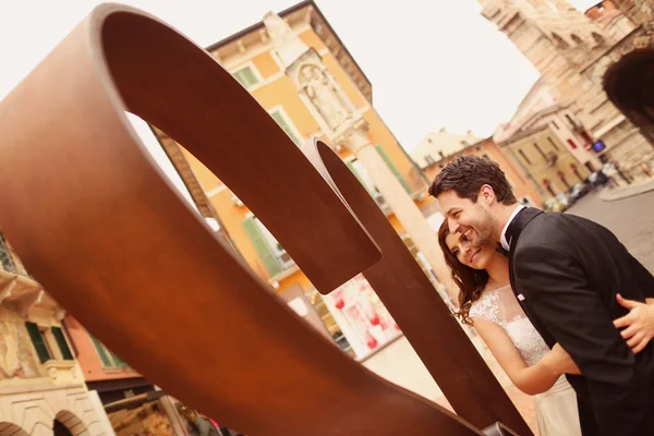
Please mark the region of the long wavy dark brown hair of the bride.
<svg viewBox="0 0 654 436"><path fill-rule="evenodd" d="M488 282L488 272L485 269L473 269L459 262L457 256L450 252L445 239L449 234L449 227L447 220L443 221L440 229L438 229L438 244L443 254L445 255L445 263L450 267L452 271L452 280L461 292L459 292L459 311L455 312L463 324L472 325L469 313L470 306L474 303L482 294L482 291Z"/></svg>

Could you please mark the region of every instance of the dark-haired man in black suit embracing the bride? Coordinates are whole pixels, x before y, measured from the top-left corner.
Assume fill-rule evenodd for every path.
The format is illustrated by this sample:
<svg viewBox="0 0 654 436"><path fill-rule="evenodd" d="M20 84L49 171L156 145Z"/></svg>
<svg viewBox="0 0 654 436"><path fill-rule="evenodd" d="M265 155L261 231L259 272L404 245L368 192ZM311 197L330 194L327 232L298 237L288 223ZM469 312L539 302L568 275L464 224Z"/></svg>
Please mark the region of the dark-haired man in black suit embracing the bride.
<svg viewBox="0 0 654 436"><path fill-rule="evenodd" d="M616 293L643 302L654 296L654 277L604 227L519 205L491 160L458 158L429 194L451 232L509 252L522 308L545 342L560 343L581 370L568 379L583 435L654 435L654 344L634 355L613 325L627 313Z"/></svg>

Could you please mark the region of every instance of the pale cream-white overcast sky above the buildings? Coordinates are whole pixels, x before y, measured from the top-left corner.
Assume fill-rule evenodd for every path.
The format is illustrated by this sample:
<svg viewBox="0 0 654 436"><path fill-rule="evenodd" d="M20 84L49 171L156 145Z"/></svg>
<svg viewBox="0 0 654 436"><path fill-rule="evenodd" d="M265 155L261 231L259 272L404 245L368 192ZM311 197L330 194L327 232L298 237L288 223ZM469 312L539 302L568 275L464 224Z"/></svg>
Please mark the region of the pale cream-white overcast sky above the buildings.
<svg viewBox="0 0 654 436"><path fill-rule="evenodd" d="M209 46L279 12L293 0L123 0ZM597 0L570 0L580 10ZM0 2L0 99L90 10L96 0ZM376 110L413 149L446 128L491 135L508 121L537 72L480 15L475 0L316 0L373 84ZM166 158L134 122L155 159ZM171 168L171 167L170 167ZM169 172L169 169L166 172Z"/></svg>

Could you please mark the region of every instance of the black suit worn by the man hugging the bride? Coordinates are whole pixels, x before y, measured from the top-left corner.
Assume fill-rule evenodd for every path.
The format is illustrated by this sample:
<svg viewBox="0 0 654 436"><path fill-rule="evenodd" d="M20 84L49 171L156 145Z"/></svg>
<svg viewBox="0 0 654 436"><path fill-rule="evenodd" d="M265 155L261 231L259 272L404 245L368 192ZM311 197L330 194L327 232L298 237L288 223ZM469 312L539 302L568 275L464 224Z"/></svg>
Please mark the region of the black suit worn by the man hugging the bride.
<svg viewBox="0 0 654 436"><path fill-rule="evenodd" d="M545 342L559 342L583 374L568 376L583 434L654 435L654 344L634 355L613 325L628 312L616 293L654 298L652 274L610 231L572 215L525 208L506 237L522 308Z"/></svg>

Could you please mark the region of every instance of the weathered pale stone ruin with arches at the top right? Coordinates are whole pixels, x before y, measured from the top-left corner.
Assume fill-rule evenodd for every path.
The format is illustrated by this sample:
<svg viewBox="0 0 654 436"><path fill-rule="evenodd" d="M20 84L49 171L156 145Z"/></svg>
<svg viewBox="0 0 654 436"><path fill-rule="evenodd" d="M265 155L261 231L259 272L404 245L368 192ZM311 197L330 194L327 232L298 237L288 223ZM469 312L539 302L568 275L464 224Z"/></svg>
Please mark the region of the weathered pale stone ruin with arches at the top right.
<svg viewBox="0 0 654 436"><path fill-rule="evenodd" d="M639 34L623 15L600 20L565 0L481 0L482 14L505 33L541 73L556 102L569 106L579 123L574 132L606 147L598 157L628 171L640 166L652 147L604 92L606 69ZM517 113L518 118L530 114Z"/></svg>

